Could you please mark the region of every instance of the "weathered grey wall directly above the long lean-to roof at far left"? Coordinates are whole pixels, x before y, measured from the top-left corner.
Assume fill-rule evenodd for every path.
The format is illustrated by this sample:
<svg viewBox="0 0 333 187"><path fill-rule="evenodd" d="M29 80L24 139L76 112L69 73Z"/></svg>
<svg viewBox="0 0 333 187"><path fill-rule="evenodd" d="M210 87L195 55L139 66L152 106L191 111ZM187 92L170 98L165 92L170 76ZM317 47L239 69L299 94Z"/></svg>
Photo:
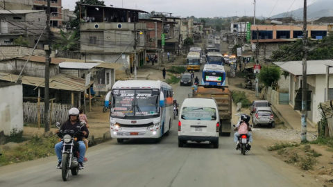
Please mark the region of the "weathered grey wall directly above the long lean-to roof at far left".
<svg viewBox="0 0 333 187"><path fill-rule="evenodd" d="M12 73L19 74L26 60L19 59L10 59L3 60L0 62L0 72L3 73ZM26 65L22 75L33 76L37 78L44 78L45 64L40 62L28 62ZM58 64L50 64L50 76L55 76L59 74L59 65Z"/></svg>

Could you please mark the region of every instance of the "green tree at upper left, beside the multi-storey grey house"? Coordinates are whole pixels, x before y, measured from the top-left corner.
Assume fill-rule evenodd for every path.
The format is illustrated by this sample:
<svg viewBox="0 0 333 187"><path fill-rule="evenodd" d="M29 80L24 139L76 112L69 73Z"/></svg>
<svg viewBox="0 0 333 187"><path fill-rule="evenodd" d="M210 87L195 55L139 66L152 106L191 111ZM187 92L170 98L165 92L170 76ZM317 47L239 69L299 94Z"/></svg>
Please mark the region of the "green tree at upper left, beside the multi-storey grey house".
<svg viewBox="0 0 333 187"><path fill-rule="evenodd" d="M64 33L60 30L60 39L57 39L54 48L60 49L62 51L76 51L79 50L80 47L78 45L78 40L80 37L76 36L77 31L73 33Z"/></svg>

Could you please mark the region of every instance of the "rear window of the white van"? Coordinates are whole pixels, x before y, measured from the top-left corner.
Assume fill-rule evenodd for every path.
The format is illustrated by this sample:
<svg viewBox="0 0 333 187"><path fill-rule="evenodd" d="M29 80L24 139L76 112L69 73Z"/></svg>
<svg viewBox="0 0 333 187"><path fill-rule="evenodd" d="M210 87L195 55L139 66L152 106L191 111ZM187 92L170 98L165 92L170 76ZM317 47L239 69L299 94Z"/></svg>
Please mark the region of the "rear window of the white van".
<svg viewBox="0 0 333 187"><path fill-rule="evenodd" d="M210 107L183 107L181 118L183 120L215 121L216 109Z"/></svg>

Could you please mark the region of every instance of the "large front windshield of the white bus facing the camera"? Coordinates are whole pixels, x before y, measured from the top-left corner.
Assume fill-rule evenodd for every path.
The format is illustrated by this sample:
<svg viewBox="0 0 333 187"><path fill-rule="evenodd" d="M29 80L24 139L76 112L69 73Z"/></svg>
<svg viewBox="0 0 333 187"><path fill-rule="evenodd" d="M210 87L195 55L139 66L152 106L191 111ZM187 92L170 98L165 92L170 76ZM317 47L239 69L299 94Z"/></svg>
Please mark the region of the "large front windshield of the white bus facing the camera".
<svg viewBox="0 0 333 187"><path fill-rule="evenodd" d="M114 89L112 91L114 118L155 118L160 116L158 89Z"/></svg>

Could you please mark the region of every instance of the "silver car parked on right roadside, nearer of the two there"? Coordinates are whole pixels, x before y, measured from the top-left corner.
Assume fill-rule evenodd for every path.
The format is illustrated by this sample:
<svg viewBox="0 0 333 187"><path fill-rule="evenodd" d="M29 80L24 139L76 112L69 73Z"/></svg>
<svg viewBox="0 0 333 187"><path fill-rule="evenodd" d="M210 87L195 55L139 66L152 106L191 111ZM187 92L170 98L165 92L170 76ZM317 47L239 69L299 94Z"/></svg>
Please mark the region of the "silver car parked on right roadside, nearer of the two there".
<svg viewBox="0 0 333 187"><path fill-rule="evenodd" d="M268 125L275 128L274 114L271 107L257 107L252 114L253 127Z"/></svg>

